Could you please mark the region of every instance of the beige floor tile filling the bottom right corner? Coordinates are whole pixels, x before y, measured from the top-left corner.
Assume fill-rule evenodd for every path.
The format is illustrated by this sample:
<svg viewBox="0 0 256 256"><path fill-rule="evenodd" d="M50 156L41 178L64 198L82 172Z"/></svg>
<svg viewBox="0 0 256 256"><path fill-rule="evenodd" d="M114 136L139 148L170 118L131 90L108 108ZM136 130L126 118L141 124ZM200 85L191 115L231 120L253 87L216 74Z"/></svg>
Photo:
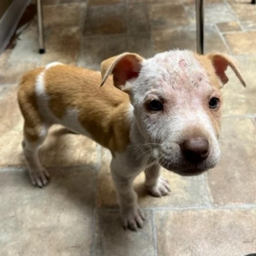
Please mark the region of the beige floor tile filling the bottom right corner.
<svg viewBox="0 0 256 256"><path fill-rule="evenodd" d="M245 256L255 253L256 211L159 211L158 255Z"/></svg>

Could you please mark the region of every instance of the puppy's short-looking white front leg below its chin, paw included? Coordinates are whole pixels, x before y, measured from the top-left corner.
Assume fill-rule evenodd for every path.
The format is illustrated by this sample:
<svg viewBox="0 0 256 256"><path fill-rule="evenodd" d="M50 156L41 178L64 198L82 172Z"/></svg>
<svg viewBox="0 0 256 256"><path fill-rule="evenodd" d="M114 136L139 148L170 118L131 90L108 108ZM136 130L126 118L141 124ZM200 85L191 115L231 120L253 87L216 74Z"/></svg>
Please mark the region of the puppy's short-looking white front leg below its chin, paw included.
<svg viewBox="0 0 256 256"><path fill-rule="evenodd" d="M150 165L145 170L145 186L149 193L153 196L165 196L169 195L171 191L168 181L160 176L160 166Z"/></svg>

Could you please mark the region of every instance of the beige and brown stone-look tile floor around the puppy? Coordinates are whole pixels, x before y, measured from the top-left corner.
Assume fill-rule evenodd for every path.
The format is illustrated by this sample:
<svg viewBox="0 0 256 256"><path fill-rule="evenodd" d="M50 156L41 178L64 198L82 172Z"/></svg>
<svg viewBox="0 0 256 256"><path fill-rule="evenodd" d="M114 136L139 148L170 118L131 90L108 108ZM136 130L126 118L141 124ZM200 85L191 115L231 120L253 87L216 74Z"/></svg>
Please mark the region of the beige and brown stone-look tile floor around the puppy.
<svg viewBox="0 0 256 256"><path fill-rule="evenodd" d="M145 227L124 231L109 174L110 155L93 141L54 127L41 159L50 185L30 185L21 151L17 81L23 71L61 61L98 69L124 51L150 57L196 49L194 0L44 0L46 54L36 20L0 55L0 255L245 256L256 253L256 6L206 0L206 52L237 59L247 88L229 71L220 164L199 177L163 170L172 193L147 195Z"/></svg>

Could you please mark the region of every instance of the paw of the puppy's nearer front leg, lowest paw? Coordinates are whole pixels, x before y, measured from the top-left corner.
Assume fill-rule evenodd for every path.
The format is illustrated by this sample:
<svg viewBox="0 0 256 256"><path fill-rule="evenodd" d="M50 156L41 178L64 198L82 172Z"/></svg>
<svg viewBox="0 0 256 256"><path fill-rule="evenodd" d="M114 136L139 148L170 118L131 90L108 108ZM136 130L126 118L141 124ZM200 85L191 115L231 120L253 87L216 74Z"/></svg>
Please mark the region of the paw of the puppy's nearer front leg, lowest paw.
<svg viewBox="0 0 256 256"><path fill-rule="evenodd" d="M132 207L129 210L121 210L121 218L125 229L137 231L143 227L143 222L146 220L145 213L140 209L139 205Z"/></svg>

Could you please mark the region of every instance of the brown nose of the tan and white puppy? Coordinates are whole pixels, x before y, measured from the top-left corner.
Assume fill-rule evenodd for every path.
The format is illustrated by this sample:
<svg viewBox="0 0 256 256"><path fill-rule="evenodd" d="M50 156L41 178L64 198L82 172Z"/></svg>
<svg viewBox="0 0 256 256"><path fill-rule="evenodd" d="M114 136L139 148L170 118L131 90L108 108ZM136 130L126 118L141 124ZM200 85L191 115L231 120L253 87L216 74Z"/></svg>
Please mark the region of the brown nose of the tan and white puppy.
<svg viewBox="0 0 256 256"><path fill-rule="evenodd" d="M210 153L209 141L201 137L185 140L180 146L184 157L192 163L203 162Z"/></svg>

